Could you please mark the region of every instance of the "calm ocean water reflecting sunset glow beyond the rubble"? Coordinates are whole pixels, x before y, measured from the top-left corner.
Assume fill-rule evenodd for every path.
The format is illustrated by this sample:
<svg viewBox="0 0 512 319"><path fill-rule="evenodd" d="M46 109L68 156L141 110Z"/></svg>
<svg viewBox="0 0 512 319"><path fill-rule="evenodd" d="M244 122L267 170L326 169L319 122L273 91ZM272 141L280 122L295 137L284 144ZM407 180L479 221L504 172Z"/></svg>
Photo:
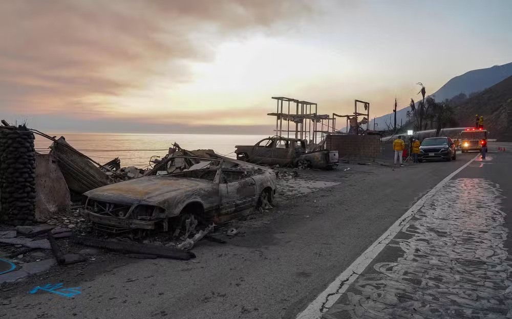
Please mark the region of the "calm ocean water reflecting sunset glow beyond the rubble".
<svg viewBox="0 0 512 319"><path fill-rule="evenodd" d="M216 134L48 134L64 136L74 148L104 164L115 157L121 160L121 167L145 167L151 156L163 157L174 142L188 150L213 149L219 154L236 157L235 145L254 145L267 138L264 135L216 135ZM48 153L52 141L36 135L35 148Z"/></svg>

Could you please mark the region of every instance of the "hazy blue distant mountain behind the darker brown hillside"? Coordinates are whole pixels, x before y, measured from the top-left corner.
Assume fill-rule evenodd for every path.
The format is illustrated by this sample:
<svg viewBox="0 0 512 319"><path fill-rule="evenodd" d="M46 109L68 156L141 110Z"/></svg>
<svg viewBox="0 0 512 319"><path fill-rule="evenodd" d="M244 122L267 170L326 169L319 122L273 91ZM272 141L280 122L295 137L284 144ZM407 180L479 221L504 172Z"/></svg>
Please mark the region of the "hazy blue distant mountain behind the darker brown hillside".
<svg viewBox="0 0 512 319"><path fill-rule="evenodd" d="M486 69L472 70L452 78L441 86L441 88L439 88L435 93L429 95L435 96L437 101L451 99L460 93L464 93L469 96L472 93L480 92L491 87L510 76L512 76L512 62L503 65L495 65ZM428 84L426 85L428 88ZM421 96L418 95L412 98L417 101ZM390 105L391 104L392 101L390 101ZM403 123L406 122L406 114L408 110L410 110L409 106L396 112L397 123L400 123L400 119L403 120ZM386 128L385 121L388 121L389 123L390 116L392 116L392 113L388 113L385 116L375 119L375 122L378 124L378 129ZM373 120L370 121L370 127L373 127Z"/></svg>

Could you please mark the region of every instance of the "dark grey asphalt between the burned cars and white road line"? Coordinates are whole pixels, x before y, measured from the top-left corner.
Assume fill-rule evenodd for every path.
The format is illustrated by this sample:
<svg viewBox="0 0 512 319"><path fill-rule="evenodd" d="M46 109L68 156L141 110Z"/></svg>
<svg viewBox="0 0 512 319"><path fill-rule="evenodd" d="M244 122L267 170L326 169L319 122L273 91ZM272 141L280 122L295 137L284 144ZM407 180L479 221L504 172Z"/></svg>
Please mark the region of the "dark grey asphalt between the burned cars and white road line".
<svg viewBox="0 0 512 319"><path fill-rule="evenodd" d="M302 173L341 184L278 200L270 212L240 225L243 236L227 244L200 242L194 261L119 256L14 284L0 292L0 317L295 318L418 198L475 155L396 169L350 164ZM486 174L490 166L471 169ZM81 287L81 294L28 293L49 283Z"/></svg>

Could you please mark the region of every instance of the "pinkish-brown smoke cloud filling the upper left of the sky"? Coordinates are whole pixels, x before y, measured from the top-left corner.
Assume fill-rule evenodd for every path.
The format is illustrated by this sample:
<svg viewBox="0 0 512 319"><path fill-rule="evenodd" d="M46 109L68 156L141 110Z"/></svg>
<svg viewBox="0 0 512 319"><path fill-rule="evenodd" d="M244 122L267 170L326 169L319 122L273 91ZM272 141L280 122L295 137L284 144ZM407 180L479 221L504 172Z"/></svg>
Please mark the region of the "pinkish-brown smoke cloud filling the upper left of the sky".
<svg viewBox="0 0 512 319"><path fill-rule="evenodd" d="M311 12L296 0L4 1L0 110L102 116L104 97L190 81L187 63L211 59L223 37Z"/></svg>

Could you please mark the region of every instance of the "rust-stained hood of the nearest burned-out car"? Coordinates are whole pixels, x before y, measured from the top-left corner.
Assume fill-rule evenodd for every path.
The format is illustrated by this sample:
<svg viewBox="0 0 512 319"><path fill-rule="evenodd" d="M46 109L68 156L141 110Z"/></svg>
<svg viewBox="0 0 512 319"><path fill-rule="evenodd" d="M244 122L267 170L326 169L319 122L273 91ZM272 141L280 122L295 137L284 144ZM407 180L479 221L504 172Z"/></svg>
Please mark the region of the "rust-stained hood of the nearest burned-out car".
<svg viewBox="0 0 512 319"><path fill-rule="evenodd" d="M167 208L171 197L183 198L185 193L215 192L208 180L169 176L145 176L93 189L84 195L100 201L131 205L148 204ZM214 195L214 194L212 194Z"/></svg>

